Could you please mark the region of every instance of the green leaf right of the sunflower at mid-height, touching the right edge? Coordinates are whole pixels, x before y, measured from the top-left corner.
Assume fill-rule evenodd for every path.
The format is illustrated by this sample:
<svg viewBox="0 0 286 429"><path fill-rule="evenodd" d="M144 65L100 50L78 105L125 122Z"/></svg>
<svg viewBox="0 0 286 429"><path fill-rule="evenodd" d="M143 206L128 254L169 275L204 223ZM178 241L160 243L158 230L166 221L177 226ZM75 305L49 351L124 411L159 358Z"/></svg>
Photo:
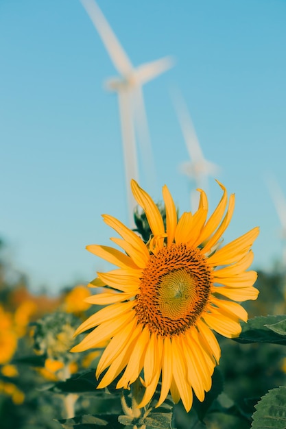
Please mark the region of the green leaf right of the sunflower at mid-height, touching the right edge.
<svg viewBox="0 0 286 429"><path fill-rule="evenodd" d="M286 321L286 315L259 316L249 319L247 323L241 324L241 334L234 341L238 343L272 343L286 345L285 334L274 332L273 327L279 322Z"/></svg>

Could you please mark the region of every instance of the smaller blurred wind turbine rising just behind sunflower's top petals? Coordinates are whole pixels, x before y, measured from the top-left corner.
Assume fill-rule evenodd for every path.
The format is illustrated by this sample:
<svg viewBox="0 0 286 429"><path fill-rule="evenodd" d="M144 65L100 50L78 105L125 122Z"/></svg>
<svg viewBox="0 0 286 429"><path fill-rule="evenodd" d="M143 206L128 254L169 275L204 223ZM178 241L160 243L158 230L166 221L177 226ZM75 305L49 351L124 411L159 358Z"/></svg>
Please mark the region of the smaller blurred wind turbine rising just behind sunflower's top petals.
<svg viewBox="0 0 286 429"><path fill-rule="evenodd" d="M184 142L186 143L190 157L190 161L181 164L180 170L189 177L191 182L195 182L195 189L200 188L207 191L208 176L217 174L219 167L204 158L187 105L178 92L174 94L174 104L178 114L182 135L184 136ZM191 189L192 211L197 210L199 201L199 194L195 189Z"/></svg>

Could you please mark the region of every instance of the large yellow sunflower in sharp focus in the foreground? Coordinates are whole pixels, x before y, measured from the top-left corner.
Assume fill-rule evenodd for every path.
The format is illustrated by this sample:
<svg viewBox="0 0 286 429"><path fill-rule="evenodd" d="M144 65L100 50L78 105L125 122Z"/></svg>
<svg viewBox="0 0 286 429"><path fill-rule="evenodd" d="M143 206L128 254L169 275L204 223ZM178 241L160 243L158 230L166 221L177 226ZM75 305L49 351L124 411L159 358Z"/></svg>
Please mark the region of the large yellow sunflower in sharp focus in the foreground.
<svg viewBox="0 0 286 429"><path fill-rule="evenodd" d="M219 182L218 182L219 183ZM174 200L163 186L165 224L158 206L134 180L132 193L143 208L152 232L145 243L123 223L104 215L104 221L121 238L110 238L113 247L89 245L89 252L119 267L97 273L89 284L104 291L86 302L104 308L76 330L80 334L95 328L73 347L73 352L97 347L108 341L97 365L96 376L104 372L98 388L120 376L117 389L129 389L139 377L145 387L139 407L146 406L160 380L162 404L169 391L191 409L193 393L200 401L211 389L211 376L219 363L220 347L213 330L233 338L241 332L239 320L247 321L246 310L237 302L256 299L257 279L250 267L252 243L259 234L254 228L220 247L235 206L226 188L213 214L206 220L208 200L202 190L198 210L177 217ZM107 371L106 371L107 369Z"/></svg>

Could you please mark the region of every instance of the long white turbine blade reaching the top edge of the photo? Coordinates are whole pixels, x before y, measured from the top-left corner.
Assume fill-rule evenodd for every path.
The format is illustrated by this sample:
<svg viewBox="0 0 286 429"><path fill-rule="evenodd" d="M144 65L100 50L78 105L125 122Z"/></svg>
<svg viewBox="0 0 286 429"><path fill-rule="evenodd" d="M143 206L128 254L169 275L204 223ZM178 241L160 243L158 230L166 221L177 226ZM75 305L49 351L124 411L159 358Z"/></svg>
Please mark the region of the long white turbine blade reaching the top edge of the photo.
<svg viewBox="0 0 286 429"><path fill-rule="evenodd" d="M129 75L132 72L133 66L126 52L121 47L119 40L112 31L108 21L97 3L93 0L80 0L93 25L97 29L108 54L115 65L115 68L121 75Z"/></svg>

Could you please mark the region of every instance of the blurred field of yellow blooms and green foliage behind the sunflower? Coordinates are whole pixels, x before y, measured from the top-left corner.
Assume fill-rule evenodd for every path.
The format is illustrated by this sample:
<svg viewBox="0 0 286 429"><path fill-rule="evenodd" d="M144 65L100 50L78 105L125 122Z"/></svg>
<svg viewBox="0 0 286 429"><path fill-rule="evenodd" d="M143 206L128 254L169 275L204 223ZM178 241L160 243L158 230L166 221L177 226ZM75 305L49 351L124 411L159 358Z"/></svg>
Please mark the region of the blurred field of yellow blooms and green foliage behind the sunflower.
<svg viewBox="0 0 286 429"><path fill-rule="evenodd" d="M285 271L279 267L267 273L259 271L259 299L246 304L250 318L286 313L285 279ZM73 412L86 415L106 409L120 413L117 400L101 401L92 393L63 395L51 389L73 373L96 367L100 351L69 353L78 341L73 339L74 329L95 310L82 301L88 294L85 286L76 284L56 297L33 294L25 276L11 273L8 261L0 257L1 428L56 429L60 424L53 419L73 417ZM222 337L219 343L224 390L221 400L226 408L236 404L239 413L236 417L235 413L216 410L208 415L206 427L250 428L253 405L269 389L285 385L285 351L281 345L240 344ZM187 415L178 404L176 427L192 427L192 413Z"/></svg>

